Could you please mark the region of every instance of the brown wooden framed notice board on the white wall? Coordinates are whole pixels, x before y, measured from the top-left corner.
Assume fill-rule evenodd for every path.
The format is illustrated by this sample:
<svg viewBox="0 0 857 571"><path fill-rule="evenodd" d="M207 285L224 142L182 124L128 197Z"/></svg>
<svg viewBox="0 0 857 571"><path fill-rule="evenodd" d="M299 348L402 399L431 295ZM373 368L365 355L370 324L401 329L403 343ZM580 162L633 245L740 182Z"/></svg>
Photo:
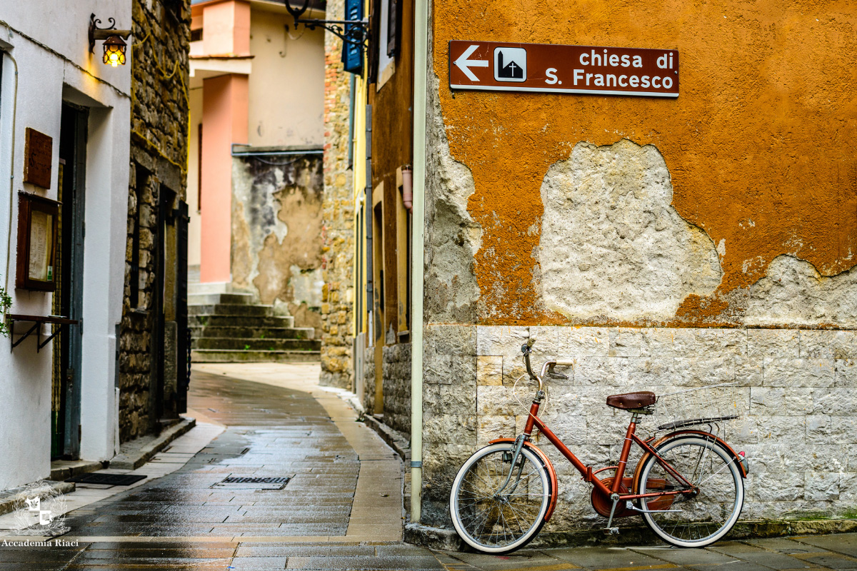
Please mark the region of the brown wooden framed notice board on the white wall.
<svg viewBox="0 0 857 571"><path fill-rule="evenodd" d="M18 193L18 264L15 287L54 291L59 204L35 194Z"/></svg>

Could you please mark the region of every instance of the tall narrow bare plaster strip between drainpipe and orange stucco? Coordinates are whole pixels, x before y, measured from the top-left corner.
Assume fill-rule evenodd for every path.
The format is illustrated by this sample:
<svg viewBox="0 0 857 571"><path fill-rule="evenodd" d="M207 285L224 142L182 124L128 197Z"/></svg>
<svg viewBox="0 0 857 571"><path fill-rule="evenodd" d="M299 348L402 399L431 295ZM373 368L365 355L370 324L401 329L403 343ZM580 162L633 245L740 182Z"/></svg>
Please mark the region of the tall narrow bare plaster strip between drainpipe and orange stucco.
<svg viewBox="0 0 857 571"><path fill-rule="evenodd" d="M439 80L429 76L430 107L426 165L425 311L430 322L472 323L479 287L474 257L482 246L482 229L467 211L474 193L473 175L449 151L437 98Z"/></svg>

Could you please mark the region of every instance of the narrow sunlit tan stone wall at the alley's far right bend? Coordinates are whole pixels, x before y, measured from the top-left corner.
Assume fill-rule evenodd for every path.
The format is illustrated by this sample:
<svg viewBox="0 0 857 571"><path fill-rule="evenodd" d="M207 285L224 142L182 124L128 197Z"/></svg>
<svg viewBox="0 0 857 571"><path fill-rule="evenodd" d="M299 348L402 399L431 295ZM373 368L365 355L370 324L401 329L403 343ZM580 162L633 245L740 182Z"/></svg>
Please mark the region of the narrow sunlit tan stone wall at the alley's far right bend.
<svg viewBox="0 0 857 571"><path fill-rule="evenodd" d="M342 0L327 3L327 19L341 20ZM352 265L354 194L348 164L351 74L342 69L342 40L325 34L325 155L321 259L321 384L354 389Z"/></svg>

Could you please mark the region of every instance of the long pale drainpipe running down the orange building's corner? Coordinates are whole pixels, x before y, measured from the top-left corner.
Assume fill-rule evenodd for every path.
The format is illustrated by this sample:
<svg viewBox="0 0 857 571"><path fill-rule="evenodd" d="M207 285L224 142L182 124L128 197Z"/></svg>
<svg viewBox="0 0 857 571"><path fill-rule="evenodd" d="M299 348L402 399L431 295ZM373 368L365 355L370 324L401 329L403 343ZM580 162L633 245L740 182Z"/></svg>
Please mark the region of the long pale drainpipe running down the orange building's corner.
<svg viewBox="0 0 857 571"><path fill-rule="evenodd" d="M423 506L423 230L426 181L428 0L414 2L413 316L411 317L411 521Z"/></svg>

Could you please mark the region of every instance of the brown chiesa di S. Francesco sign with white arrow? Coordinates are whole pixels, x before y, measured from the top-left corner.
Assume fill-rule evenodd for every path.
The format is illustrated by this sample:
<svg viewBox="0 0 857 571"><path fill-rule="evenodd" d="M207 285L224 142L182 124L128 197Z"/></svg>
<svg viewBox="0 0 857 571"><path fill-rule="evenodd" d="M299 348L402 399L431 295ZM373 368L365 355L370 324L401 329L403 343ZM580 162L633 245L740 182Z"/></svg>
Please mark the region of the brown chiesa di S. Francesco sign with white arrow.
<svg viewBox="0 0 857 571"><path fill-rule="evenodd" d="M676 98L679 51L452 40L449 86Z"/></svg>

